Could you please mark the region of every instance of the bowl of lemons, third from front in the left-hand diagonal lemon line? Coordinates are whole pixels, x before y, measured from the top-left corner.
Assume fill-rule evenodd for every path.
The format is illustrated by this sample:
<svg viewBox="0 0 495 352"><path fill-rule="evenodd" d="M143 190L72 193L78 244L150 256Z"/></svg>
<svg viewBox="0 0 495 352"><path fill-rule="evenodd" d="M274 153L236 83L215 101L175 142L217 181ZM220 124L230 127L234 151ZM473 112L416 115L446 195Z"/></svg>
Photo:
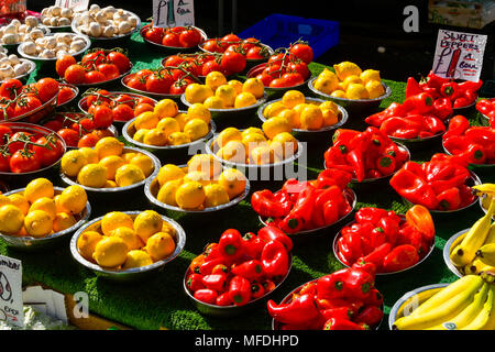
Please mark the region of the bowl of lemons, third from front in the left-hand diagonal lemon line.
<svg viewBox="0 0 495 352"><path fill-rule="evenodd" d="M154 111L146 111L128 121L122 134L125 141L152 152L160 161L186 163L191 154L201 151L205 141L216 131L208 110L195 113L178 110L172 99L158 101Z"/></svg>

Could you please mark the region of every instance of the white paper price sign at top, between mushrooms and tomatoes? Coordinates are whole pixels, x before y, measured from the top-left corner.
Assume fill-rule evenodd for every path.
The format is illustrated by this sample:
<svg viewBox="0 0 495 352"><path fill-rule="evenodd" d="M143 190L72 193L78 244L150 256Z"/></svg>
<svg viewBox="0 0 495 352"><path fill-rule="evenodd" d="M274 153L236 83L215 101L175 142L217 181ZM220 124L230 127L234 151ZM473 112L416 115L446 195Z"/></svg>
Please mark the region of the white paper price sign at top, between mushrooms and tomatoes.
<svg viewBox="0 0 495 352"><path fill-rule="evenodd" d="M153 25L158 28L195 24L194 0L153 0Z"/></svg>

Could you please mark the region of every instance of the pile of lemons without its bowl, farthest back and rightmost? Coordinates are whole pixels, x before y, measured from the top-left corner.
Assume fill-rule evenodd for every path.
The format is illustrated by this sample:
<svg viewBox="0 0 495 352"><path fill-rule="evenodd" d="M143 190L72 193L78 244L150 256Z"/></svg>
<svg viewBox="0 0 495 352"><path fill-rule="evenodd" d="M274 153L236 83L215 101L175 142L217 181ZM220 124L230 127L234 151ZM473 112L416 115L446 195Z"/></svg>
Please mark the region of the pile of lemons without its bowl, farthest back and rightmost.
<svg viewBox="0 0 495 352"><path fill-rule="evenodd" d="M383 96L380 72L362 70L356 64L342 62L333 65L336 73L324 68L314 81L315 89L336 98L374 99Z"/></svg>

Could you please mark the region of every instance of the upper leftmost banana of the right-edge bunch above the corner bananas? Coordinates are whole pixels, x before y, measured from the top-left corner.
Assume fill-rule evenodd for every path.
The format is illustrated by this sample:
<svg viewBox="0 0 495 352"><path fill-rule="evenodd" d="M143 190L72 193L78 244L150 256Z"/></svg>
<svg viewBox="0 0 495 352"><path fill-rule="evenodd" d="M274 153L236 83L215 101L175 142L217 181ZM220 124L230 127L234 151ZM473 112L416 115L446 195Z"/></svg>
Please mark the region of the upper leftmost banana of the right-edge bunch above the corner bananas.
<svg viewBox="0 0 495 352"><path fill-rule="evenodd" d="M493 201L486 215L473 224L461 244L455 246L452 251L450 260L453 264L457 266L464 266L474 260L476 251L483 245L488 237L494 211L495 202Z"/></svg>

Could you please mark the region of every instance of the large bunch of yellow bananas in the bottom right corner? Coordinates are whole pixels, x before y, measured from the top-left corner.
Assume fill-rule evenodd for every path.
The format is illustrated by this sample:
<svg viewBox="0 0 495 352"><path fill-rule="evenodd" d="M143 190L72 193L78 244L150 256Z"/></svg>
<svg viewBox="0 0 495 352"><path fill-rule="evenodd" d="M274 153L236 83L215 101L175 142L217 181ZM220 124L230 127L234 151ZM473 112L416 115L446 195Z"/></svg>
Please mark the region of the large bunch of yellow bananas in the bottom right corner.
<svg viewBox="0 0 495 352"><path fill-rule="evenodd" d="M492 276L466 275L443 288L415 295L403 305L393 329L494 330L495 285L491 282Z"/></svg>

